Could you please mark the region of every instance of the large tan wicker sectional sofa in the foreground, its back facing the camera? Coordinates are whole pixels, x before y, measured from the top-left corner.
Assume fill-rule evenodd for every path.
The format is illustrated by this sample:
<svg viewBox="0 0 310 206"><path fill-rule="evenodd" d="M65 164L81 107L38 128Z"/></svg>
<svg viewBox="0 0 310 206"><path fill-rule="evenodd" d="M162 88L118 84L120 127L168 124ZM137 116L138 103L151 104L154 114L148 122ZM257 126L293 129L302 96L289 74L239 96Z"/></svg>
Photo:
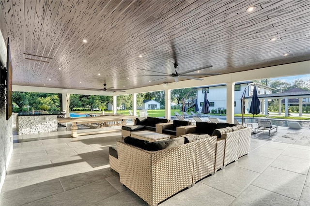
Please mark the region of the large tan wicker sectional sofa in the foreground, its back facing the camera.
<svg viewBox="0 0 310 206"><path fill-rule="evenodd" d="M110 155L110 167L120 174L122 184L149 205L157 205L248 154L251 128L236 126L234 131L232 128L217 129L212 136L185 134L152 143L168 145L159 150L153 146L146 148L151 143L144 140L132 144L126 139L135 138L126 137L127 143L117 142L118 158Z"/></svg>

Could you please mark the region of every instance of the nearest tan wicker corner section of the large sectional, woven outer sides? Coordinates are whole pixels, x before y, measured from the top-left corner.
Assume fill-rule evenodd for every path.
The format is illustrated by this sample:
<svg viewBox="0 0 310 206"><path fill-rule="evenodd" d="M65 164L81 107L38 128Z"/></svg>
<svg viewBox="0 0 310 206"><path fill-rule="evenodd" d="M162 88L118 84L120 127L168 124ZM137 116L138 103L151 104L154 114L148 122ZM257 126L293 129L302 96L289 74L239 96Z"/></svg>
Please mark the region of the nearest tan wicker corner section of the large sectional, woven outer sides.
<svg viewBox="0 0 310 206"><path fill-rule="evenodd" d="M117 142L120 181L154 206L192 184L194 144L148 152Z"/></svg>

